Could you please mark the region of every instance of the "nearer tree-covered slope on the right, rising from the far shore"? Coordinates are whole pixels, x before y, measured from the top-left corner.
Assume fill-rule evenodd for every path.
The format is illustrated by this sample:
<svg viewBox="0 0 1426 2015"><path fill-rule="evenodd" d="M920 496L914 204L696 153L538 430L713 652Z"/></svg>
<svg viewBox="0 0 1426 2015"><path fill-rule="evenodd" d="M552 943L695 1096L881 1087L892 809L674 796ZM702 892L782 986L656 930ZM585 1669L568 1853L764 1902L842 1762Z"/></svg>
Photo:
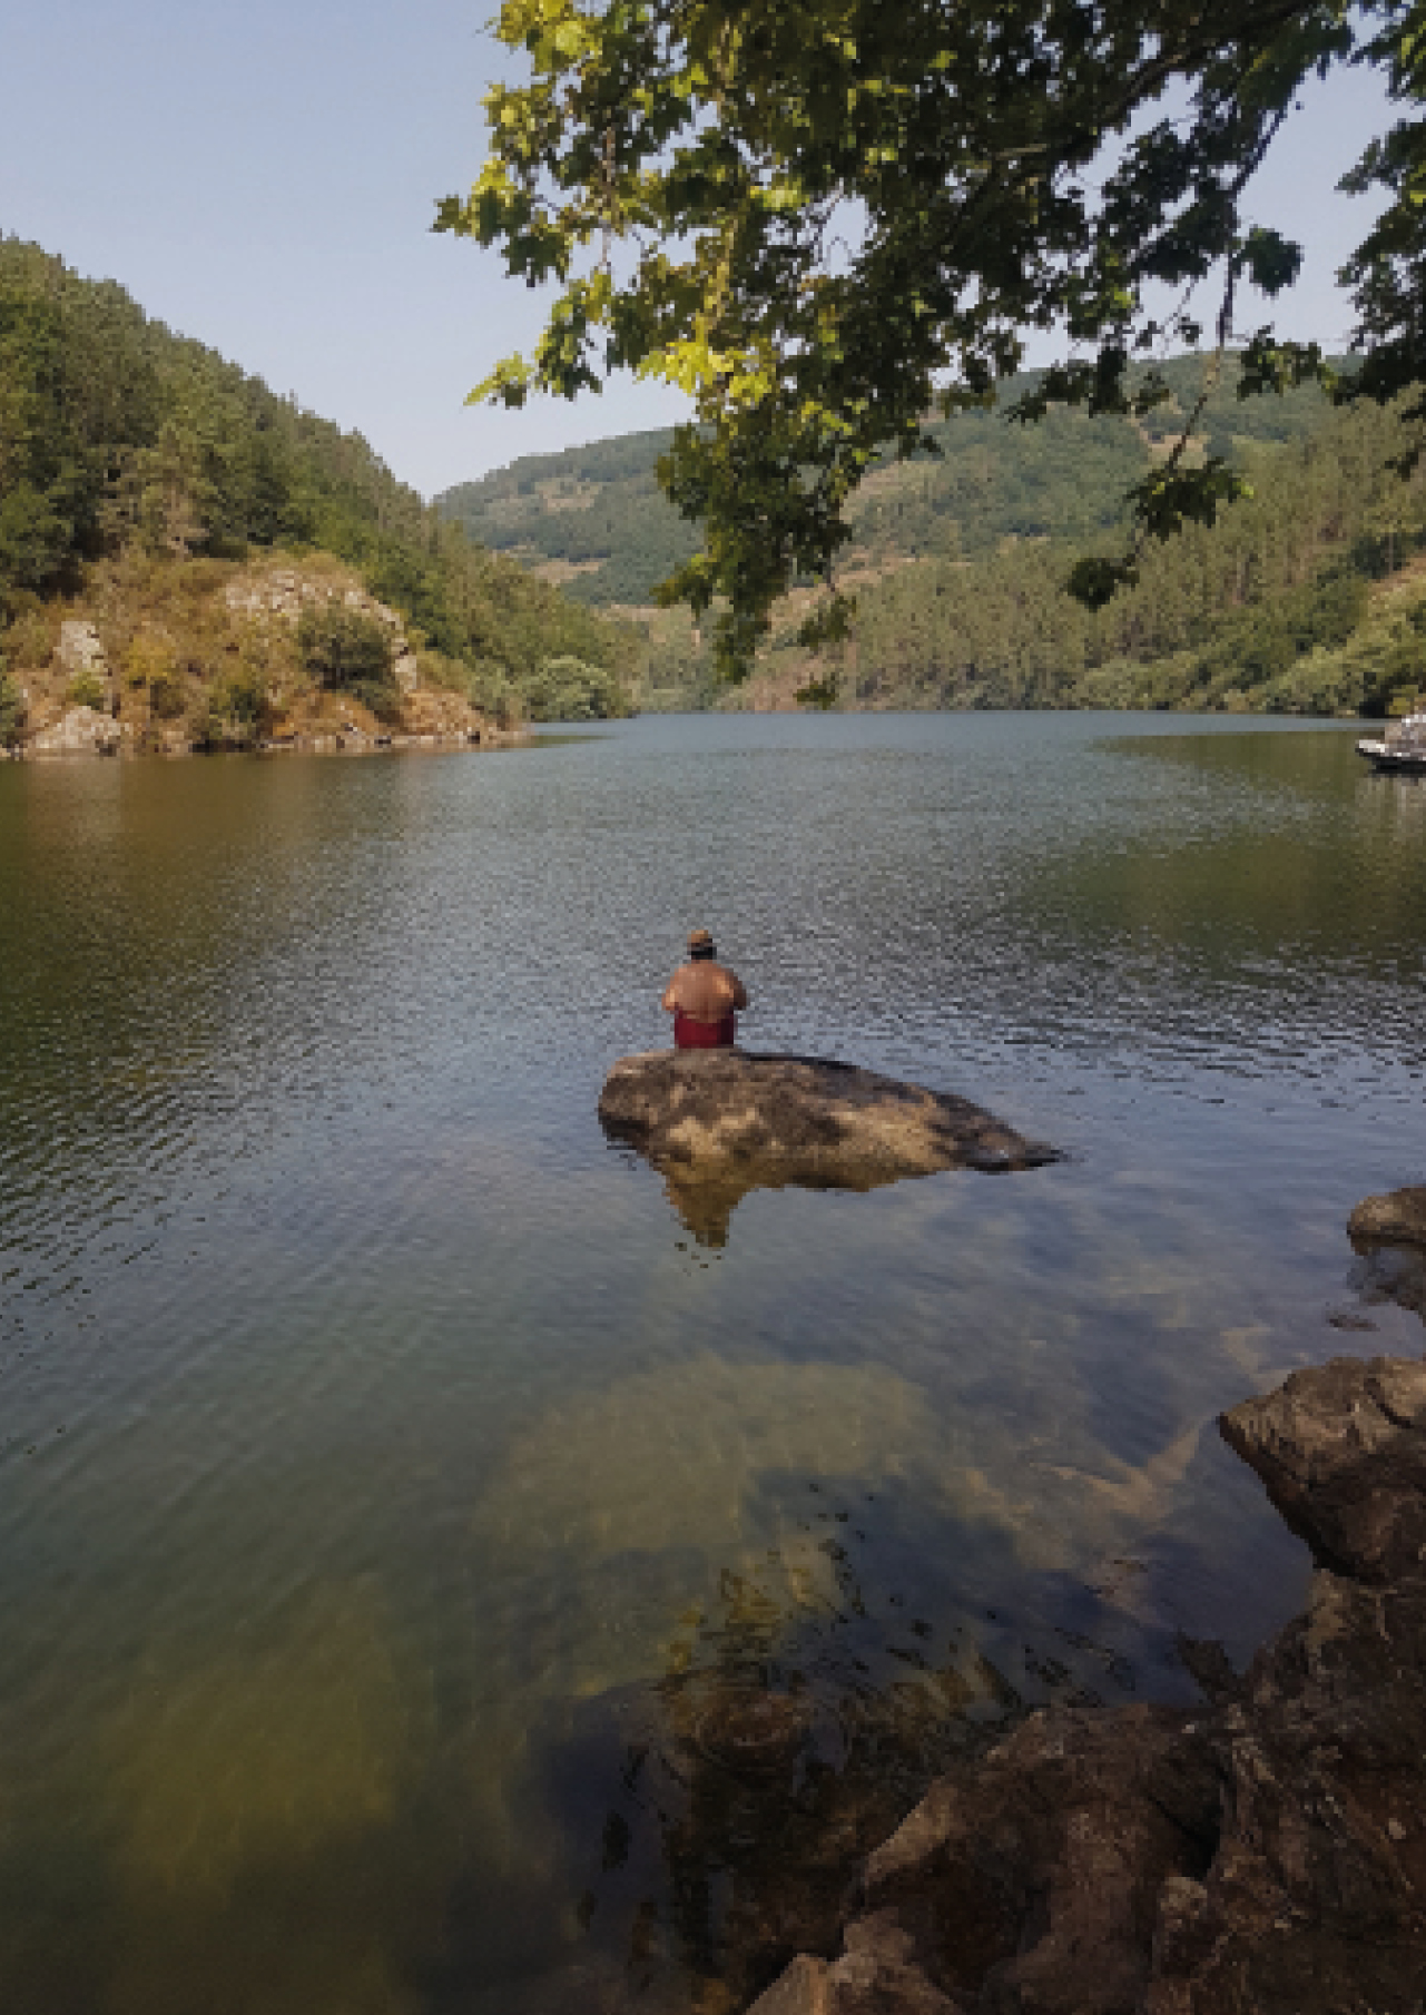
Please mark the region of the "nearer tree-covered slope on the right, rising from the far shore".
<svg viewBox="0 0 1426 2015"><path fill-rule="evenodd" d="M1386 713L1426 685L1426 488L1390 467L1404 445L1364 405L1247 449L1253 496L1150 544L1098 613L1065 592L1067 542L896 566L862 588L850 645L810 673L788 625L763 677L783 661L860 705Z"/></svg>

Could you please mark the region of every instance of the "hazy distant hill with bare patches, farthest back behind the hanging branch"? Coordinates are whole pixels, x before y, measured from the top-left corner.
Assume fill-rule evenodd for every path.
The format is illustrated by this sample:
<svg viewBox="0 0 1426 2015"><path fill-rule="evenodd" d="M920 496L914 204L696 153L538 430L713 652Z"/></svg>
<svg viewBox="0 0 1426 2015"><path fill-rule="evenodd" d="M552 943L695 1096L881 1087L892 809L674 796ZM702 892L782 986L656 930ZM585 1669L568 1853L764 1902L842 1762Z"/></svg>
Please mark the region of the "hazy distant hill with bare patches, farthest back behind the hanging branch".
<svg viewBox="0 0 1426 2015"><path fill-rule="evenodd" d="M852 504L846 564L985 558L1009 540L1082 546L1124 522L1124 492L1164 453L1196 403L1200 357L1164 367L1172 401L1146 421L1051 413L1021 427L1005 417L1029 379L1003 387L1003 407L935 425L937 459L876 469ZM1315 387L1239 401L1235 381L1210 397L1200 453L1305 439L1325 417ZM659 490L655 465L671 433L628 433L558 455L524 455L479 482L445 490L435 508L467 534L522 560L588 607L653 602L675 566L697 552L697 528Z"/></svg>

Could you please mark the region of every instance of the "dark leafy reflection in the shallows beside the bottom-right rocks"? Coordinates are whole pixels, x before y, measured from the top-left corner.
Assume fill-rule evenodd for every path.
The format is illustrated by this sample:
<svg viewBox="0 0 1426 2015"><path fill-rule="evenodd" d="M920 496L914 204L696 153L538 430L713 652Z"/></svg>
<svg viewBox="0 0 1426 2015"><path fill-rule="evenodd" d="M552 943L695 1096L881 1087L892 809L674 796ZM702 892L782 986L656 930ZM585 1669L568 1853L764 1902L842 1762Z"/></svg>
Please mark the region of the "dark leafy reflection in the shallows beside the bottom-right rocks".
<svg viewBox="0 0 1426 2015"><path fill-rule="evenodd" d="M580 1906L588 1924L604 1902L620 1908L622 1888L630 2005L663 2007L673 1969L677 2005L713 2015L794 1953L836 1951L858 1862L1019 1711L973 1646L939 1662L922 1618L888 1642L838 1531L846 1515L822 1511L834 1531L725 1572L669 1644Z"/></svg>

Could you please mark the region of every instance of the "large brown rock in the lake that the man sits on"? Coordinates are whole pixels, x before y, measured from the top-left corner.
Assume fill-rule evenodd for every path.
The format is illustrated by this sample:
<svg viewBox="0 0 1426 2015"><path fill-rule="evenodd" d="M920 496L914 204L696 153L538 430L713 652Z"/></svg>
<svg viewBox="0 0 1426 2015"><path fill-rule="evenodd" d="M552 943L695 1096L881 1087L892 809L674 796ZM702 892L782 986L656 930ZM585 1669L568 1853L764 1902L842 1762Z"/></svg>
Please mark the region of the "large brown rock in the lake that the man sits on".
<svg viewBox="0 0 1426 2015"><path fill-rule="evenodd" d="M749 1189L876 1189L939 1169L1057 1159L965 1098L856 1064L751 1050L624 1056L604 1080L598 1116L665 1175L707 1243L721 1243Z"/></svg>

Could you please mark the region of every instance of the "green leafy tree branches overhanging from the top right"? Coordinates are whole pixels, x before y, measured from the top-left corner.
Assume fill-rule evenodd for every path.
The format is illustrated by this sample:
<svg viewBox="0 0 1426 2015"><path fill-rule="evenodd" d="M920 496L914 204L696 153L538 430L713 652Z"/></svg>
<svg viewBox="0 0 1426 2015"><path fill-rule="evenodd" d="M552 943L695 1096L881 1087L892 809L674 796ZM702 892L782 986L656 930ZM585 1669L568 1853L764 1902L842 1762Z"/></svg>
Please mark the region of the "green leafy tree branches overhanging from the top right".
<svg viewBox="0 0 1426 2015"><path fill-rule="evenodd" d="M1382 66L1410 109L1424 22L1422 0L504 0L530 81L489 93L491 155L437 228L560 292L534 357L475 397L572 397L620 367L693 395L661 476L705 550L671 592L721 600L737 673L790 582L830 576L878 451L933 451L926 417L989 401L1025 330L1070 357L1019 417L1142 415L1162 387L1132 365L1198 341L1200 282L1219 343L1243 282L1289 284L1299 248L1245 214L1255 169L1333 64ZM1358 169L1390 195L1351 264L1376 397L1422 375L1424 131L1404 119ZM1249 341L1241 389L1305 375L1329 377L1315 347ZM1170 453L1082 598L1237 490Z"/></svg>

